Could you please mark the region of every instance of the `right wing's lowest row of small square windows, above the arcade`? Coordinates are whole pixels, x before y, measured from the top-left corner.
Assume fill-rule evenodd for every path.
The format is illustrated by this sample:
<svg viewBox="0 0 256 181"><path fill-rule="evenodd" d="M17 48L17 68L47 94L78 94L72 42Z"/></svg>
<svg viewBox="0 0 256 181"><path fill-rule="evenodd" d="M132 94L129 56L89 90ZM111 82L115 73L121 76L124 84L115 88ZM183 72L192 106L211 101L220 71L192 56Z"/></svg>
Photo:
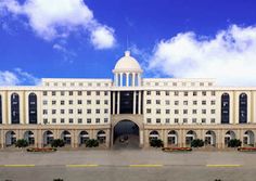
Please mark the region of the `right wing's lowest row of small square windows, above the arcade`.
<svg viewBox="0 0 256 181"><path fill-rule="evenodd" d="M201 118L201 119L192 118L191 121L193 124L205 124L206 122L206 118ZM161 118L156 118L155 122L156 124L161 124L162 119ZM175 118L174 119L174 124L188 124L188 122L189 122L189 118L183 118L183 119ZM146 124L152 124L152 118L146 118ZM170 118L165 118L165 124L170 124ZM210 124L215 124L215 118L210 118Z"/></svg>

